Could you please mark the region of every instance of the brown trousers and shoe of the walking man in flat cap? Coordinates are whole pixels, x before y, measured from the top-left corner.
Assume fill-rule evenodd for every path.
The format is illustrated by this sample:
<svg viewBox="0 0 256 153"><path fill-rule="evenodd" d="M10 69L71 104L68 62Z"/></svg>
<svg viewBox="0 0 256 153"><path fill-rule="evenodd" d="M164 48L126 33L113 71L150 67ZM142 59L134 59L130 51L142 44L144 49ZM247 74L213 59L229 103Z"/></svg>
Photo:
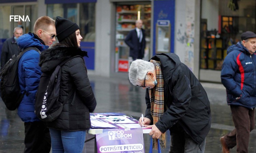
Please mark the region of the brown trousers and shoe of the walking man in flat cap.
<svg viewBox="0 0 256 153"><path fill-rule="evenodd" d="M255 126L255 109L230 105L232 118L236 129L225 135L228 148L237 146L238 153L247 153L250 132Z"/></svg>

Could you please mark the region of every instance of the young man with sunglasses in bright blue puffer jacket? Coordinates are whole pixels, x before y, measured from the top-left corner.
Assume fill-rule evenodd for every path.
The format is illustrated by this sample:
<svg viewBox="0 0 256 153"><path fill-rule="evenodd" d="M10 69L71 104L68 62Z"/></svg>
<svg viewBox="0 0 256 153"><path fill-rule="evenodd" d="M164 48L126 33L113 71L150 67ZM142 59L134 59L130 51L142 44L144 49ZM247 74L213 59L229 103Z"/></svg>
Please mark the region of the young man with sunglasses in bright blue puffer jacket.
<svg viewBox="0 0 256 153"><path fill-rule="evenodd" d="M55 21L42 16L35 21L34 33L20 36L17 44L20 48L36 47L42 52L53 44L55 36ZM20 58L18 65L20 89L22 93L27 92L18 107L18 115L25 126L24 153L49 153L51 150L49 129L34 113L35 94L42 74L39 58L38 51L29 50Z"/></svg>

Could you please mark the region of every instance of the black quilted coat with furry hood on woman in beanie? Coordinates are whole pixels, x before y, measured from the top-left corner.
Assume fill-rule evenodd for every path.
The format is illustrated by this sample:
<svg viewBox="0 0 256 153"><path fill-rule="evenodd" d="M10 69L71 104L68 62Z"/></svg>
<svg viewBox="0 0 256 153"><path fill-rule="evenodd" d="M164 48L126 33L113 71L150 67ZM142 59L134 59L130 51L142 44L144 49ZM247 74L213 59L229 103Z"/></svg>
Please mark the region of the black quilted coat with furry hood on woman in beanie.
<svg viewBox="0 0 256 153"><path fill-rule="evenodd" d="M59 63L76 55L87 56L87 52L80 48L56 45L41 53L39 65L42 72L52 72ZM90 112L96 107L96 99L81 57L74 57L61 66L59 100L64 102L72 90L75 90L74 96L63 105L60 116L46 123L49 128L64 131L90 129Z"/></svg>

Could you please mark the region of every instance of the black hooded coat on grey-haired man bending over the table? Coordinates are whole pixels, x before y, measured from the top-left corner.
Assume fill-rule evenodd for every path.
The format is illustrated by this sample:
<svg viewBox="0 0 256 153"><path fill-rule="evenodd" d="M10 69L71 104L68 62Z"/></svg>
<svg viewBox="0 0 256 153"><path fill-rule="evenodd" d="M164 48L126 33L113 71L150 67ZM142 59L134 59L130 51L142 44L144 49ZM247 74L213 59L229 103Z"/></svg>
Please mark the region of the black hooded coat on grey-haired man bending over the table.
<svg viewBox="0 0 256 153"><path fill-rule="evenodd" d="M160 61L164 82L165 113L156 127L165 133L168 129L173 132L172 126L180 124L193 140L201 144L211 128L210 102L204 88L176 54L160 53L151 59ZM145 99L145 117L153 123L148 89Z"/></svg>

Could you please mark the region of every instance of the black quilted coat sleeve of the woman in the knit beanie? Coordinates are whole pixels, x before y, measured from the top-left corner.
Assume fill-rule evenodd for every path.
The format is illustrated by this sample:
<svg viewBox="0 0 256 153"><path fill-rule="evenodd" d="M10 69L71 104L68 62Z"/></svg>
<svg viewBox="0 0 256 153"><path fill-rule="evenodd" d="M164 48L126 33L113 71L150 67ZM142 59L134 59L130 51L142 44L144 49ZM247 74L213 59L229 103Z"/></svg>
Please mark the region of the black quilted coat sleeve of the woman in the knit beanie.
<svg viewBox="0 0 256 153"><path fill-rule="evenodd" d="M88 79L84 60L81 57L75 57L71 60L70 65L69 71L76 86L76 91L91 113L96 108L97 103Z"/></svg>

